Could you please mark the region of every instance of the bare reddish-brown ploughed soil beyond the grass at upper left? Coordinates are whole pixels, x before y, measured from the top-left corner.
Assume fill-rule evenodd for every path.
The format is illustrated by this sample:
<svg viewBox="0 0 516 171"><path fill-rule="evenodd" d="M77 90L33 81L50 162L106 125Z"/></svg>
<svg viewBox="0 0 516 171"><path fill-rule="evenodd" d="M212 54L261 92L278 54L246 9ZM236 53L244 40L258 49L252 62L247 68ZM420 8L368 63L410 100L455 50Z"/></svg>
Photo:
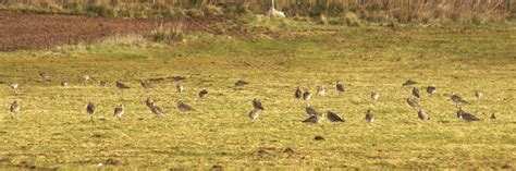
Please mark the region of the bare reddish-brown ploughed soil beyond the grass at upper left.
<svg viewBox="0 0 516 171"><path fill-rule="evenodd" d="M41 49L64 44L91 42L102 37L143 34L150 35L161 21L164 26L181 24L183 30L208 30L223 16L181 19L88 17L77 15L25 14L0 11L0 51Z"/></svg>

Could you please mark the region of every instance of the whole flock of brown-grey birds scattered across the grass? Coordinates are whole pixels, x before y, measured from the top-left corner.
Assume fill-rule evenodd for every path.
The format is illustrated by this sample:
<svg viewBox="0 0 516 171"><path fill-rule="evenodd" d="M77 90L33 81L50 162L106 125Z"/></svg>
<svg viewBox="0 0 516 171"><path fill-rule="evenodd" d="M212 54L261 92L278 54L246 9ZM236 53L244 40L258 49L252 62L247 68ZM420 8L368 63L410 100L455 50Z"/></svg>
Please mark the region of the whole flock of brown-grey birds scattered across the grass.
<svg viewBox="0 0 516 171"><path fill-rule="evenodd" d="M50 78L50 73L48 72L45 72L45 71L40 71L39 72L39 76L44 80L44 81L48 81ZM182 76L176 76L174 77L174 80L184 80L185 77L182 77ZM90 77L88 75L83 75L82 76L82 80L84 82L89 82L90 81ZM235 87L243 87L245 85L247 85L248 83L247 82L244 82L244 81L237 81L235 83ZM403 87L406 87L406 86L411 86L413 89L411 89L411 95L415 97L415 98L407 98L406 99L406 103L410 107L414 107L414 108L418 108L418 112L417 112L417 115L420 120L430 120L430 114L427 113L422 107L418 103L417 99L419 99L421 97L421 93L419 90L419 88L417 88L416 85L418 84L417 82L415 81L411 81L411 80L408 80L408 81L405 81L403 84L402 84L402 88ZM140 81L140 85L142 87L144 88L152 88L152 84L150 82L146 82L146 81ZM67 83L66 82L61 82L61 86L62 87L66 87L67 86ZM108 86L108 82L106 81L100 81L100 86L102 87L107 87ZM126 84L122 83L122 82L119 82L116 81L115 82L115 86L120 89L126 89L126 88L130 88L130 86L127 86ZM19 84L17 83L13 83L10 85L10 87L12 89L16 89L19 87ZM339 93L339 94L342 94L344 91L346 91L346 87L341 83L341 82L336 82L335 83L335 90ZM434 86L428 86L426 87L426 91L429 94L429 95L433 95L437 90L437 87ZM176 85L176 91L177 93L183 93L185 91L185 86L182 85L182 84L177 84ZM324 94L327 93L327 89L324 86L317 86L317 91L316 91L316 95L317 96L324 96ZM202 88L199 94L198 94L199 98L204 99L204 98L207 98L208 97L208 90ZM303 91L300 89L299 86L297 86L296 90L295 90L295 94L294 94L294 97L298 100L305 100L305 101L309 101L311 99L311 93L308 91L308 90L305 90ZM475 97L476 99L480 99L481 97L483 96L483 94L481 91L478 91L476 90L475 91ZM380 98L380 93L378 91L371 91L371 96L370 96L371 100L373 101L377 101L379 98ZM452 93L450 99L455 102L456 107L457 107L457 112L456 112L456 115L458 119L460 120L465 120L467 122L472 122L472 121L480 121L480 119L478 119L477 117L475 117L474 114L471 113L468 113L466 111L464 111L462 109L462 105L464 103L468 103L466 100L464 100L460 96L458 95L455 95L454 93ZM146 106L149 108L149 110L155 114L155 117L161 117L163 115L164 111L161 107L159 107L156 102L153 102L152 99L150 98L147 98L147 100L145 101ZM254 98L253 101L253 109L250 110L250 112L248 113L248 117L251 121L255 121L258 119L259 117L259 113L260 111L265 110L262 103L260 102L260 100L258 100L257 98ZM183 112L183 113L187 113L189 111L194 111L194 108L192 108L189 105L179 100L177 101L177 109ZM14 102L11 103L10 106L10 112L11 112L11 118L14 119L14 115L20 112L21 110L21 103L15 100ZM114 108L114 112L113 112L113 117L115 119L121 119L122 115L124 114L124 106L123 105L119 105ZM309 105L309 102L306 103L306 108L305 108L305 111L306 113L308 114L308 118L306 120L304 120L303 122L306 122L306 123L319 123L321 120L322 120L322 113L318 112L314 107L311 107ZM96 112L96 105L91 101L88 102L88 105L86 106L86 112L90 115L91 118L91 121L94 121L94 114ZM327 111L325 112L325 115L328 118L328 120L330 122L344 122L344 119L336 112L333 112L333 111ZM496 119L496 115L495 113L492 113L491 114L491 119ZM365 114L365 120L367 122L373 122L374 121L374 115L372 113L372 110L371 109L368 109L366 114Z"/></svg>

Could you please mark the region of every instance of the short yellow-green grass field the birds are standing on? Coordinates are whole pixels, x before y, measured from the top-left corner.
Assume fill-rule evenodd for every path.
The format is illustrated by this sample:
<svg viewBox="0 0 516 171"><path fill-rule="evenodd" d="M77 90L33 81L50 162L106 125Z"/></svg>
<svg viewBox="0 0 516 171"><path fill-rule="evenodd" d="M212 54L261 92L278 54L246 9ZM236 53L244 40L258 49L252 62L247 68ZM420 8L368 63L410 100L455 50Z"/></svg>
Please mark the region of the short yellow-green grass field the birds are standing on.
<svg viewBox="0 0 516 171"><path fill-rule="evenodd" d="M89 168L513 168L516 164L516 27L410 26L307 27L254 38L189 34L171 47L64 46L50 50L0 53L0 167ZM131 45L131 44L130 44ZM41 82L38 71L52 74ZM95 82L85 84L81 75ZM139 80L167 78L144 89ZM98 81L110 81L99 87ZM121 90L114 81L132 88ZM235 89L238 80L250 84ZM431 117L419 121L405 99L410 88L438 87L420 99ZM67 81L69 87L59 87ZM348 90L339 95L334 82ZM20 83L14 93L10 83ZM176 84L186 91L175 93ZM305 103L294 99L296 86L323 97L310 103L332 110L346 122L302 123ZM202 88L207 99L198 99ZM377 102L370 91L381 96ZM475 100L474 91L484 97ZM482 119L467 123L455 117L450 94L470 101L464 109ZM164 108L153 118L147 97ZM266 110L251 123L253 98ZM9 105L22 110L10 119ZM183 114L176 101L193 106ZM91 122L88 101L97 103ZM122 120L112 117L126 106ZM376 122L364 115L372 109ZM491 113L497 120L490 120ZM324 141L315 141L321 135ZM292 148L294 154L283 152Z"/></svg>

